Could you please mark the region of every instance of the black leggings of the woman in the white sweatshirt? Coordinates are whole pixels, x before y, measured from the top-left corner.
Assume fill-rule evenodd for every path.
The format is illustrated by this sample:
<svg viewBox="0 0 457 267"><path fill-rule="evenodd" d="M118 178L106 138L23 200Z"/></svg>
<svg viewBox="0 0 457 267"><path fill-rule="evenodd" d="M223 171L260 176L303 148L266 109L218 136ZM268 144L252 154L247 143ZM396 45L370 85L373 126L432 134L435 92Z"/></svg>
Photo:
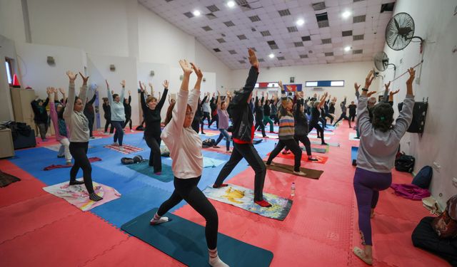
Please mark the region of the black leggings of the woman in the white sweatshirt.
<svg viewBox="0 0 457 267"><path fill-rule="evenodd" d="M208 244L209 249L215 249L217 247L219 218L213 204L211 204L205 197L205 194L197 187L200 178L201 176L191 179L174 177L174 192L169 199L160 205L157 215L164 216L166 212L184 199L201 216L204 216L206 220L206 244Z"/></svg>

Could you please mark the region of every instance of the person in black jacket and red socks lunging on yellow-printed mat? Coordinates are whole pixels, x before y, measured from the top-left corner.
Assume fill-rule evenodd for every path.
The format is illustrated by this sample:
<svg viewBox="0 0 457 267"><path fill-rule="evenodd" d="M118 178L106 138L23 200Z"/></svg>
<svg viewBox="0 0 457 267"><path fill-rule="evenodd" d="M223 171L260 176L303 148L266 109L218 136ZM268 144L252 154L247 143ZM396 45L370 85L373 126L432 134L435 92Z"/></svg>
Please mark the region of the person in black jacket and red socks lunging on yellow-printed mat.
<svg viewBox="0 0 457 267"><path fill-rule="evenodd" d="M254 137L253 115L248 104L252 98L252 90L256 86L259 65L256 53L252 49L249 49L248 53L251 69L249 70L246 85L244 85L243 89L235 92L229 106L229 113L232 116L233 122L233 151L231 152L229 162L221 169L213 187L226 187L227 184L223 184L222 182L229 176L238 162L244 158L256 173L254 177L254 203L268 207L271 204L263 199L266 167L252 144Z"/></svg>

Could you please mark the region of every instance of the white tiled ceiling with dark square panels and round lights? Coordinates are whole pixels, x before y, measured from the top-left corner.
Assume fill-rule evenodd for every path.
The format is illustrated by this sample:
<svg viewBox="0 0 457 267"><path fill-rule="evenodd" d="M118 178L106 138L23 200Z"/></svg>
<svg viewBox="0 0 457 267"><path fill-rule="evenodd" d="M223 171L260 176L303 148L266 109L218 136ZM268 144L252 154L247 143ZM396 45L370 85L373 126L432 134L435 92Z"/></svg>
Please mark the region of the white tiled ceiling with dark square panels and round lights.
<svg viewBox="0 0 457 267"><path fill-rule="evenodd" d="M261 65L265 67L371 61L376 52L383 51L384 32L392 16L391 11L381 13L381 5L395 1L325 0L325 8L318 11L313 9L313 4L321 0L236 0L233 8L226 6L225 0L139 0L139 3L184 32L196 36L229 68L241 69L249 66L246 55L250 47L256 49L258 58L264 61ZM279 11L286 9L290 15L281 16ZM195 10L199 10L201 16L192 16ZM352 14L343 19L343 11L351 11ZM191 18L185 15L187 12L190 12ZM316 14L325 12L328 26L323 21L319 27ZM258 16L260 21L250 18L253 16ZM363 20L363 16L365 21L354 23L356 19ZM305 23L297 26L298 19L303 19ZM230 21L233 26L229 26ZM206 26L211 29L205 30ZM297 31L288 30L293 26ZM263 33L266 35L263 36L263 31L268 31L270 35ZM351 32L343 36L343 31ZM354 40L356 38L362 39ZM268 41L274 41L277 48L272 49ZM352 50L344 51L346 46L351 46ZM214 51L216 48L220 51ZM275 54L273 59L268 57L270 53Z"/></svg>

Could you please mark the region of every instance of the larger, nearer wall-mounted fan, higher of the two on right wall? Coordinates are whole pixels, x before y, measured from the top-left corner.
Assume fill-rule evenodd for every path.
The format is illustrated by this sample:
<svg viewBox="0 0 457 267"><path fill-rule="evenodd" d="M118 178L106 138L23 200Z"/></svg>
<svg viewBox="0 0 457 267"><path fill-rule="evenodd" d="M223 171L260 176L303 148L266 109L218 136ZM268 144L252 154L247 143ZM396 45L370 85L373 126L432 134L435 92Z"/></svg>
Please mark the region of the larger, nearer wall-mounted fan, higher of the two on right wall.
<svg viewBox="0 0 457 267"><path fill-rule="evenodd" d="M414 36L414 21L408 13L398 13L392 17L386 26L386 43L393 50L402 50L408 46Z"/></svg>

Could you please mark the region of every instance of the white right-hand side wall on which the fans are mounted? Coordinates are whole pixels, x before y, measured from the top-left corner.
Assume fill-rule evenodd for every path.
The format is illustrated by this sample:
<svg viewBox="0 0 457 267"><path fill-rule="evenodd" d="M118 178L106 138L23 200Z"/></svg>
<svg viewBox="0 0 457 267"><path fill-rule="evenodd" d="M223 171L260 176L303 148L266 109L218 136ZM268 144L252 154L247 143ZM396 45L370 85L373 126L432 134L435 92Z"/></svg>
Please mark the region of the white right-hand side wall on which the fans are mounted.
<svg viewBox="0 0 457 267"><path fill-rule="evenodd" d="M447 199L457 194L457 189L452 184L452 178L457 177L457 53L453 53L457 46L457 16L453 15L457 2L439 2L440 4L426 0L398 0L394 14L410 14L416 26L414 35L426 40L422 70L416 70L416 80L420 80L420 83L413 84L416 101L428 98L426 125L422 137L407 132L401 148L416 157L415 172L424 165L433 166L433 162L441 165L439 172L433 170L431 192L445 206ZM398 74L416 65L422 58L418 43L410 43L403 51L393 51L386 46L384 51L390 58L390 63L396 64ZM393 73L389 71L386 80L392 78ZM396 80L393 85L393 88L401 89L396 95L396 103L403 100L406 94L407 78L408 74Z"/></svg>

